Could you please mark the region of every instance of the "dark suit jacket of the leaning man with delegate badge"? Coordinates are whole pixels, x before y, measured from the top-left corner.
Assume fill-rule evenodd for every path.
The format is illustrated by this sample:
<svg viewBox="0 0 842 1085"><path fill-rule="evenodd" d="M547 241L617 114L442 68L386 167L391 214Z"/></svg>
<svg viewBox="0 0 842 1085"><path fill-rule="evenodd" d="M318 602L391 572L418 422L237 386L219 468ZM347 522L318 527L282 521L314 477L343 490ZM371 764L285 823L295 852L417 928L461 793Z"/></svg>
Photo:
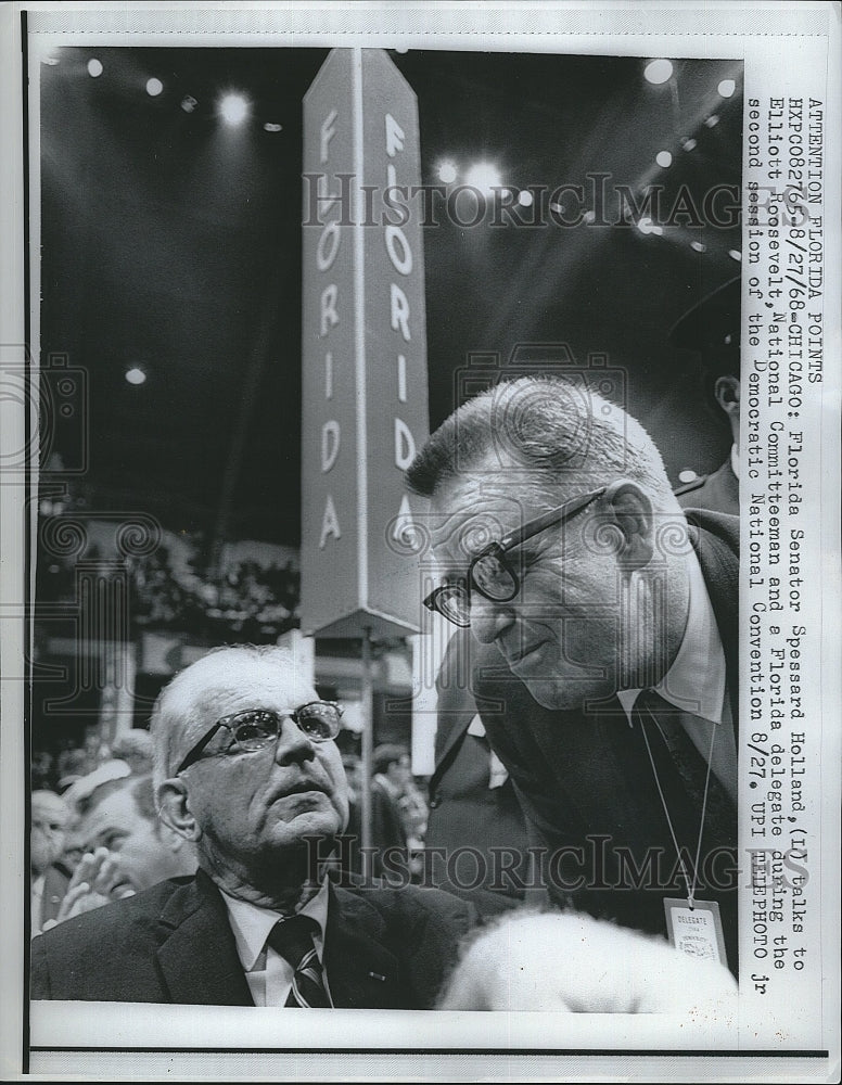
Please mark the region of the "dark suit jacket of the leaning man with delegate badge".
<svg viewBox="0 0 842 1085"><path fill-rule="evenodd" d="M702 510L685 514L725 650L736 732L739 521ZM501 669L494 646L477 662L474 690L492 745L514 780L534 842L550 854L569 850L544 879L554 902L665 933L663 899L684 896L685 889L680 880L672 889L659 886L658 877L650 886L646 876L635 888L634 876L629 878L630 863L645 871L647 858L659 851L663 870L672 872L676 852L646 749L620 702L589 706L587 713L544 709L520 680ZM673 792L668 805L679 843L694 858L701 809L681 792L678 781ZM739 882L736 806L729 801L717 814L705 819L702 855L709 857L709 880L722 888L703 880L697 895L719 904L728 960L733 965ZM570 851L577 847L583 848L582 860ZM584 885L576 883L579 875Z"/></svg>

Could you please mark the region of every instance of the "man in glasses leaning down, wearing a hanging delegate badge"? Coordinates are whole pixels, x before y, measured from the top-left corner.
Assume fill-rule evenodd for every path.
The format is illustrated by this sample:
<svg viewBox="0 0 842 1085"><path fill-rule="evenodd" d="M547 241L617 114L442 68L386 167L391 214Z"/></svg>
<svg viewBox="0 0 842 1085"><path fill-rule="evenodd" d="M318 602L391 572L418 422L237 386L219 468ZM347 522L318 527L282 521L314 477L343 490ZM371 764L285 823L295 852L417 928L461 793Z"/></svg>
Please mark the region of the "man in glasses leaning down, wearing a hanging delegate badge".
<svg viewBox="0 0 842 1085"><path fill-rule="evenodd" d="M739 522L680 508L598 376L501 382L432 435L424 603L470 633L536 882L736 971Z"/></svg>

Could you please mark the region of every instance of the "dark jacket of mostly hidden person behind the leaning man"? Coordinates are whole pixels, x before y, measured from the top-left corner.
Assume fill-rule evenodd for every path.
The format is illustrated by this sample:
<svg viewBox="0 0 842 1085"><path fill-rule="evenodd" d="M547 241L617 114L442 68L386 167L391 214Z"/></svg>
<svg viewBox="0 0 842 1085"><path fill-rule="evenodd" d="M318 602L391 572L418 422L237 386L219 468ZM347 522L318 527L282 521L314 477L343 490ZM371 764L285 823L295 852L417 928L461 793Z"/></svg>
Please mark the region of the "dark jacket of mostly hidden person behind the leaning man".
<svg viewBox="0 0 842 1085"><path fill-rule="evenodd" d="M523 903L531 841L511 779L499 788L488 787L488 740L468 733L476 701L458 679L462 667L457 661L467 663L471 652L470 630L459 629L438 673L435 770L429 784L424 844L430 850L434 884L472 901L483 915L490 916ZM444 848L445 856L438 857L432 851L435 847ZM465 848L479 857L465 854L452 861ZM503 855L501 848L509 854ZM506 867L511 868L509 873L502 872Z"/></svg>

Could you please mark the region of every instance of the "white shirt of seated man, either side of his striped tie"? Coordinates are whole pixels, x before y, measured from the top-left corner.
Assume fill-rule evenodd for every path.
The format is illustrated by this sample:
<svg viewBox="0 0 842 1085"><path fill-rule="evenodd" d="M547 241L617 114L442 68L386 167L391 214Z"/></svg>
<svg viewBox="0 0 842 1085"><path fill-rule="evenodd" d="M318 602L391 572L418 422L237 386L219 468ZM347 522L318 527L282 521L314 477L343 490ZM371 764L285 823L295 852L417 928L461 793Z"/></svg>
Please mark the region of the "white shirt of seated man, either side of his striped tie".
<svg viewBox="0 0 842 1085"><path fill-rule="evenodd" d="M255 1006L283 1006L292 988L293 967L275 949L266 945L269 932L281 918L280 911L271 908L260 908L248 901L222 893L222 899L228 908L228 919L237 943L237 953L245 972L248 990ZM322 967L324 965L324 931L328 924L328 881L322 882L319 892L296 914L309 916L319 924L314 932L314 945ZM327 973L322 974L324 990L330 996Z"/></svg>

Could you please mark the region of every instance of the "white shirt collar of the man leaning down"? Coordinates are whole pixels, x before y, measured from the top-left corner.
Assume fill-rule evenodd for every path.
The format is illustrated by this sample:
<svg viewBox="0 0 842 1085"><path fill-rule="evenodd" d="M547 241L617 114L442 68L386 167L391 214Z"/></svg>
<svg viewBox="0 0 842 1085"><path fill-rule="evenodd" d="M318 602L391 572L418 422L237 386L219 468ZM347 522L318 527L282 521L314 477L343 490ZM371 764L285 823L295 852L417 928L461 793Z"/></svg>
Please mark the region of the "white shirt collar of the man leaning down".
<svg viewBox="0 0 842 1085"><path fill-rule="evenodd" d="M690 601L685 634L673 665L654 688L665 701L682 712L720 724L726 692L725 652L696 554L687 564ZM629 723L632 709L640 692L639 689L617 691L617 699Z"/></svg>

